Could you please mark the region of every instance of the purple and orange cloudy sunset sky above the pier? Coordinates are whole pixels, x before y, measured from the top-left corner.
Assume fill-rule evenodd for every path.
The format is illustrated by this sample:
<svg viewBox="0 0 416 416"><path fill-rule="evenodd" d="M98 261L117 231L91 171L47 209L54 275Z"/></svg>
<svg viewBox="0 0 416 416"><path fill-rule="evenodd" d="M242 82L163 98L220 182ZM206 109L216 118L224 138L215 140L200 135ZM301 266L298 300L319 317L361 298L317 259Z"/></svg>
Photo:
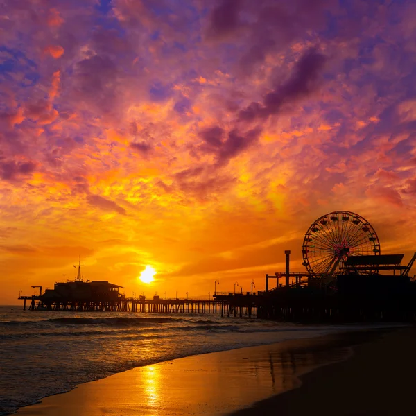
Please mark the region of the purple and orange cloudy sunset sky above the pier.
<svg viewBox="0 0 416 416"><path fill-rule="evenodd" d="M263 290L335 210L416 251L414 1L0 4L0 303L79 255L127 295Z"/></svg>

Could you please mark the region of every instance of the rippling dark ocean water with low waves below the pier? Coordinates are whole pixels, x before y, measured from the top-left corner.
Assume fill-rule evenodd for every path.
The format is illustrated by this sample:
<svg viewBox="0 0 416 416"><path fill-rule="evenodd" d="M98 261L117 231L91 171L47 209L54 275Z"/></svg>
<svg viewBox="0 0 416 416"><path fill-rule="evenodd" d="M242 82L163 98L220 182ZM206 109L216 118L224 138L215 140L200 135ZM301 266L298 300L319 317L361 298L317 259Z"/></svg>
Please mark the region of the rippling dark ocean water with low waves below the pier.
<svg viewBox="0 0 416 416"><path fill-rule="evenodd" d="M0 415L133 367L360 328L212 314L76 313L0 306Z"/></svg>

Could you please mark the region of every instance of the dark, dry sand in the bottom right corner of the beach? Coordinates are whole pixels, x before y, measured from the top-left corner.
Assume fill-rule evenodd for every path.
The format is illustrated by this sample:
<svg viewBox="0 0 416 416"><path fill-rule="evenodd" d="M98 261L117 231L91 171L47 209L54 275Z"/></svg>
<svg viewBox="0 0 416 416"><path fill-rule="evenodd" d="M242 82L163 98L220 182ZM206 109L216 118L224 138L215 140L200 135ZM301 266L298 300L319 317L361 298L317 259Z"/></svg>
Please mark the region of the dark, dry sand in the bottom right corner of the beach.
<svg viewBox="0 0 416 416"><path fill-rule="evenodd" d="M233 416L415 415L416 329L385 333L340 363L304 374L300 388Z"/></svg>

